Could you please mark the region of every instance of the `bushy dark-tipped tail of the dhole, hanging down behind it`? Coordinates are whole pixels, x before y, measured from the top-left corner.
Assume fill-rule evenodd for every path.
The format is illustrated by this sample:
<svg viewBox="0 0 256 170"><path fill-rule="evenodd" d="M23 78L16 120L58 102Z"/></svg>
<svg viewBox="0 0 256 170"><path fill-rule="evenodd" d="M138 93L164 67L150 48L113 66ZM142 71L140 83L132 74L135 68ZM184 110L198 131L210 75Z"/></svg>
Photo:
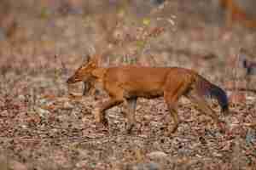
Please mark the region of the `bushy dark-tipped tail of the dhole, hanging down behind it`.
<svg viewBox="0 0 256 170"><path fill-rule="evenodd" d="M207 98L217 99L222 112L227 113L229 111L228 97L222 88L208 82L203 77L198 80L196 87L201 95Z"/></svg>

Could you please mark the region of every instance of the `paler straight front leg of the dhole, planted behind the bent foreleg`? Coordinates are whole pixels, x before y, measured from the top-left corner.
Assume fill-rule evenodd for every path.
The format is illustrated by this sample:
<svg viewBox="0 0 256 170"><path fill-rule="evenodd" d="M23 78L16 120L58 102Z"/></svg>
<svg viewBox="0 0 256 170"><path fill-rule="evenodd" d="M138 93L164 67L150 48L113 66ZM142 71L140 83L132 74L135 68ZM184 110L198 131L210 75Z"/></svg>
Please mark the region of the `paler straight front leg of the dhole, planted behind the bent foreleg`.
<svg viewBox="0 0 256 170"><path fill-rule="evenodd" d="M127 99L127 105L128 105L128 112L127 112L128 124L126 126L126 129L128 133L131 133L131 130L135 126L135 122L136 122L135 111L136 111L136 105L137 105L137 98Z"/></svg>

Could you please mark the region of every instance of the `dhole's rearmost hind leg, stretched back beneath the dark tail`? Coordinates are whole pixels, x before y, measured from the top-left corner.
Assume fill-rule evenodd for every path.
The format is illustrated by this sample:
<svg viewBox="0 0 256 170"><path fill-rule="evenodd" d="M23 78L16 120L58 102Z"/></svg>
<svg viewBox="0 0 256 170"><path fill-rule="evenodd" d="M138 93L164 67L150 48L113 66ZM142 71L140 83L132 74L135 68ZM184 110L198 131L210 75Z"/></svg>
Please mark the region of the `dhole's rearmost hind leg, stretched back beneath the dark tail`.
<svg viewBox="0 0 256 170"><path fill-rule="evenodd" d="M199 94L193 93L191 91L189 94L186 95L188 99L195 103L195 105L198 106L198 109L207 114L208 116L211 116L213 121L217 123L218 126L222 127L221 121L218 119L218 115L215 111L212 110L212 108L207 104L207 100L204 99ZM223 127L222 127L223 128ZM222 129L224 130L224 129Z"/></svg>

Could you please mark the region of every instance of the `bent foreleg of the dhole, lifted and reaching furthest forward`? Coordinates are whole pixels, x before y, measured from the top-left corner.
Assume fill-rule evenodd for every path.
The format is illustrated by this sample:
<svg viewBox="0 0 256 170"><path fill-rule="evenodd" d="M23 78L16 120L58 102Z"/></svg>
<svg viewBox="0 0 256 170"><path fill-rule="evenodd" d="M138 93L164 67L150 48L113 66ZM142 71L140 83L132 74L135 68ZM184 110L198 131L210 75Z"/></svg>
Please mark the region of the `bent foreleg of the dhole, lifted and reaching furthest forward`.
<svg viewBox="0 0 256 170"><path fill-rule="evenodd" d="M105 127L108 127L108 119L106 117L106 111L115 105L122 103L123 99L111 98L104 102L99 110L96 111L96 122L102 123Z"/></svg>

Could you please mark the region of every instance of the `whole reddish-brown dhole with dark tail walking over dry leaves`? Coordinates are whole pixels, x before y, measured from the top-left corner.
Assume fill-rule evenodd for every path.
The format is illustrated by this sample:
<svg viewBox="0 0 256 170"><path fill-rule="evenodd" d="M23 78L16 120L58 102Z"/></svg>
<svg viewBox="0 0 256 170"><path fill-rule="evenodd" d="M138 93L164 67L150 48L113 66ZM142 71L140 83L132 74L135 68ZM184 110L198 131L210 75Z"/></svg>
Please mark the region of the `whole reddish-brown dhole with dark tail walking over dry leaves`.
<svg viewBox="0 0 256 170"><path fill-rule="evenodd" d="M198 108L222 127L218 115L207 104L206 98L218 100L221 111L228 113L228 98L224 90L208 82L195 71L179 67L142 67L135 65L99 67L99 57L94 57L81 65L74 75L68 78L67 83L96 82L101 83L110 99L104 102L96 113L96 122L101 122L106 127L108 119L106 111L115 105L123 103L128 105L127 131L130 133L135 125L135 111L137 98L154 99L164 96L168 111L174 125L169 128L169 134L177 130L179 117L176 105L181 96L190 99ZM223 130L223 129L222 129Z"/></svg>

